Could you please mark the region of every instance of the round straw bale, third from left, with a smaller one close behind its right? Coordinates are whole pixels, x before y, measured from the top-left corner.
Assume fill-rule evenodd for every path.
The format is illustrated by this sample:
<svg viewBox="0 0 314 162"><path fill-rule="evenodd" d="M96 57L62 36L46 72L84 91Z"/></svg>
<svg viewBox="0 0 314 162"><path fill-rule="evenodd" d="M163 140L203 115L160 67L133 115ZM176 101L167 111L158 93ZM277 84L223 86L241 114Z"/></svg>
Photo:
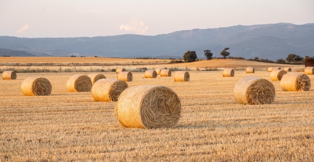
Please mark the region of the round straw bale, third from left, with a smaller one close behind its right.
<svg viewBox="0 0 314 162"><path fill-rule="evenodd" d="M90 91L92 88L92 80L87 75L75 74L68 79L67 89L70 91Z"/></svg>

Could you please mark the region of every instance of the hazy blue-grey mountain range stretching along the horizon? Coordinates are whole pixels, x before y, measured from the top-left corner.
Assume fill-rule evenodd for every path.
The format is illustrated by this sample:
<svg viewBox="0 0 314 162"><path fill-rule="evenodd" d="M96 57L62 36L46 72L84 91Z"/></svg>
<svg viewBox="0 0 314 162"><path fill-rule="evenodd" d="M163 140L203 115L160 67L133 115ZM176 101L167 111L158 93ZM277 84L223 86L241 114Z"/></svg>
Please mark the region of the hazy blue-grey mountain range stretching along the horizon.
<svg viewBox="0 0 314 162"><path fill-rule="evenodd" d="M314 56L314 23L237 25L231 27L176 31L155 36L124 34L97 37L25 38L0 36L0 47L25 50L38 56L105 56L182 58L195 50L214 56L229 47L230 56L285 59L295 53Z"/></svg>

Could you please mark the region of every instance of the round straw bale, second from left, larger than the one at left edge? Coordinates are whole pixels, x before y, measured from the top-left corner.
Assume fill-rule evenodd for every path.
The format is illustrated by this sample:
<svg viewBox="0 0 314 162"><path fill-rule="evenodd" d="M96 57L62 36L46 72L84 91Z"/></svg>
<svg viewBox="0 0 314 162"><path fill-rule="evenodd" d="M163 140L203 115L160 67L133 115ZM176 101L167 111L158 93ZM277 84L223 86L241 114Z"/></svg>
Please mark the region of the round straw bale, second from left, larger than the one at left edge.
<svg viewBox="0 0 314 162"><path fill-rule="evenodd" d="M49 95L52 85L45 77L28 77L23 80L21 89L25 95Z"/></svg>

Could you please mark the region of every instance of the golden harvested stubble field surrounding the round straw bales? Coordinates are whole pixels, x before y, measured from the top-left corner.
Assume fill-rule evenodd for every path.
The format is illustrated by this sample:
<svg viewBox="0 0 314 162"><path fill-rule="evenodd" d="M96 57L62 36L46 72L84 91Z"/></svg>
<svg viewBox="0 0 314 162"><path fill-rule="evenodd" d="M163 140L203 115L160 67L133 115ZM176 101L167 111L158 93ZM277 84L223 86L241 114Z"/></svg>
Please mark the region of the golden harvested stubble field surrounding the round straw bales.
<svg viewBox="0 0 314 162"><path fill-rule="evenodd" d="M222 60L151 68L224 67L222 62L211 66L214 61ZM128 86L166 85L178 94L182 113L173 128L125 128L115 116L116 102L67 90L72 75L91 72L17 73L17 79L0 79L0 161L313 161L314 86L283 91L280 81L271 81L276 90L272 104L239 104L233 97L235 83L245 76L270 80L266 68L278 64L223 61L225 66L235 61L230 64L239 68L235 76L190 70L190 81L175 82L173 75L144 78L144 72L132 72ZM246 73L241 68L248 65L258 69ZM116 78L115 72L99 73ZM28 76L50 80L51 94L23 95L21 83ZM314 75L308 76L314 82Z"/></svg>

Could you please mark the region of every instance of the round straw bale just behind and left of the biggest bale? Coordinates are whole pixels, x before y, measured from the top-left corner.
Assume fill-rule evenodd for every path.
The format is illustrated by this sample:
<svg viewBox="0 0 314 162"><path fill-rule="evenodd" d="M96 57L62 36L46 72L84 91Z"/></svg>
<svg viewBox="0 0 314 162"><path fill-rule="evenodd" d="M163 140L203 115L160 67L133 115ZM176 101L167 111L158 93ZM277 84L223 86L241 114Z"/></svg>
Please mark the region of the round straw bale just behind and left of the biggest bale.
<svg viewBox="0 0 314 162"><path fill-rule="evenodd" d="M123 80L102 78L92 87L95 101L117 101L121 92L128 87Z"/></svg>

